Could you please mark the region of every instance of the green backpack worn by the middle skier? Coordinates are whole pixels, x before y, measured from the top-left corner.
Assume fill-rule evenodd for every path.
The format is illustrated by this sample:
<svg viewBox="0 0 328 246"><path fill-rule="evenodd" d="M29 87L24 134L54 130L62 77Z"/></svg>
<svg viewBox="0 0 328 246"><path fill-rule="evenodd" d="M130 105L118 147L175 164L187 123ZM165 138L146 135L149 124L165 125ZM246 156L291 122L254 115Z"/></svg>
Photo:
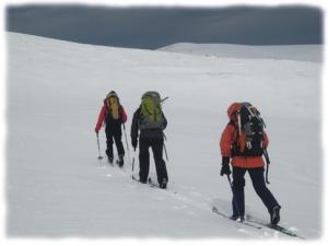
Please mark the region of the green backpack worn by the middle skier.
<svg viewBox="0 0 328 246"><path fill-rule="evenodd" d="M141 97L139 127L144 129L162 129L164 117L161 106L161 96L157 92L147 92Z"/></svg>

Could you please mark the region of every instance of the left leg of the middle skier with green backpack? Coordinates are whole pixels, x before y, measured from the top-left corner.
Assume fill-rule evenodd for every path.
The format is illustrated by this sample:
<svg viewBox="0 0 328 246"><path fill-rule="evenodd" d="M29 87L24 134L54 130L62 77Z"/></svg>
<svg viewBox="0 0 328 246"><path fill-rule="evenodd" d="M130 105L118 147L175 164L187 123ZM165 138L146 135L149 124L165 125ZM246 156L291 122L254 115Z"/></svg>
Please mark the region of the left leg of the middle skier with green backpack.
<svg viewBox="0 0 328 246"><path fill-rule="evenodd" d="M147 183L149 175L149 141L139 139L139 180Z"/></svg>

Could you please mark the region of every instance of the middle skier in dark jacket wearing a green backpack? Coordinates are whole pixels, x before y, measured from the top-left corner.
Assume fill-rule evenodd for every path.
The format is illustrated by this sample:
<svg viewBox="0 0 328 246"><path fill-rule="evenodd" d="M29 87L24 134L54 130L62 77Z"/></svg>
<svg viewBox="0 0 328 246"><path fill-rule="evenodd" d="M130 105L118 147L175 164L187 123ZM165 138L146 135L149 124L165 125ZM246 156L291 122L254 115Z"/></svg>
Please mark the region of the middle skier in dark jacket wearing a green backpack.
<svg viewBox="0 0 328 246"><path fill-rule="evenodd" d="M167 120L162 112L161 96L157 92L147 92L142 95L141 105L133 114L131 125L131 143L136 151L139 136L139 180L148 180L150 154L153 151L160 188L165 189L168 177L163 160L164 132Z"/></svg>

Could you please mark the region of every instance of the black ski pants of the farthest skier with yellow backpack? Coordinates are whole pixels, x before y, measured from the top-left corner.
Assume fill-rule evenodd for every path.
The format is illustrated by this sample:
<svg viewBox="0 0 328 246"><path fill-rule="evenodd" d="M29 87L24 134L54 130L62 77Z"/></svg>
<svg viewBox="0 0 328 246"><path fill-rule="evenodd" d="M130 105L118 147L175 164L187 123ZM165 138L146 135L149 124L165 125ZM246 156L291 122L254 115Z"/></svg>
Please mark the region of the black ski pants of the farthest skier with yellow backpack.
<svg viewBox="0 0 328 246"><path fill-rule="evenodd" d="M106 143L107 143L107 150L106 154L108 157L114 157L113 154L113 144L115 141L116 148L117 148L117 153L119 156L125 155L125 148L121 142L121 127L120 125L117 127L108 127L105 129L106 131Z"/></svg>

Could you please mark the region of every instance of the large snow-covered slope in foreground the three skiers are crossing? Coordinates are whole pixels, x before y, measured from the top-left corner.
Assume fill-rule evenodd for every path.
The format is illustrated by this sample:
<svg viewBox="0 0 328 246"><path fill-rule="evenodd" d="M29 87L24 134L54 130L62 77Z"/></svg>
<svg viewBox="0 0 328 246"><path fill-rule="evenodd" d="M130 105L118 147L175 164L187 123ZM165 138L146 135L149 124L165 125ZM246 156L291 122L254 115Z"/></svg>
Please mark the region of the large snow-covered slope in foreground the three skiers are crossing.
<svg viewBox="0 0 328 246"><path fill-rule="evenodd" d="M226 108L235 101L254 103L267 122L269 188L282 206L280 224L306 238L323 234L321 63L110 48L15 33L7 37L8 236L288 238L211 212L215 204L231 213L219 140ZM110 90L128 114L129 144L142 93L169 96L164 104L167 190L132 181L128 155L124 171L97 160L94 127ZM104 155L104 130L101 150ZM268 221L246 177L246 213Z"/></svg>

